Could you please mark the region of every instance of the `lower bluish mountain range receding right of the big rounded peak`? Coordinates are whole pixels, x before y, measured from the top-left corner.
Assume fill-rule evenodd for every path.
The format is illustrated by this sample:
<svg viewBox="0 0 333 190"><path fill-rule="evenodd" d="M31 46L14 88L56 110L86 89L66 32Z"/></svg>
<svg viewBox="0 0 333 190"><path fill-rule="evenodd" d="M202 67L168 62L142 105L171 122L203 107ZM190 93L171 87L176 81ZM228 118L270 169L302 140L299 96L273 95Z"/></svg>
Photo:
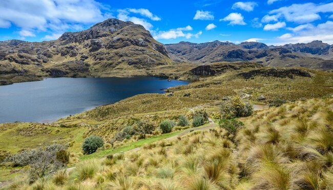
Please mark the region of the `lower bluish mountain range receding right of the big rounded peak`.
<svg viewBox="0 0 333 190"><path fill-rule="evenodd" d="M195 44L181 41L165 45L174 61L209 64L220 61L255 61L270 67L307 67L333 69L333 46L313 41L308 44L267 46L263 43L212 41Z"/></svg>

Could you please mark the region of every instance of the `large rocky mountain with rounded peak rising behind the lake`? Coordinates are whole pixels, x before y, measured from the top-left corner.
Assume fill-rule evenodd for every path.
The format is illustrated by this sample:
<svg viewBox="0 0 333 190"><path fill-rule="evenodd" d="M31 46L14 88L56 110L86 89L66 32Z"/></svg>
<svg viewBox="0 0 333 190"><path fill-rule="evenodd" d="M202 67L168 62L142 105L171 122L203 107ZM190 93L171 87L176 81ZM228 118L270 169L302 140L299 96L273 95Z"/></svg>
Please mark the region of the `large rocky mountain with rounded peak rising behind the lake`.
<svg viewBox="0 0 333 190"><path fill-rule="evenodd" d="M57 40L0 41L3 83L41 76L132 76L170 63L164 45L149 31L114 18L88 30L66 32Z"/></svg>

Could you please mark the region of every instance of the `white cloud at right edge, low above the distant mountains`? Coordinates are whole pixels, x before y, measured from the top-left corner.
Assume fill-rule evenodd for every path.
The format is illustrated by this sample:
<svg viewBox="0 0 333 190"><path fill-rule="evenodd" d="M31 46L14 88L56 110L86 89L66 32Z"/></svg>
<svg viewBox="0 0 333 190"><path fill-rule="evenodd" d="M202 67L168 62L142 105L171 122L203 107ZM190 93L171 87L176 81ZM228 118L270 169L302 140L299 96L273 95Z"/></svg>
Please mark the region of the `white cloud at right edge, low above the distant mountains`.
<svg viewBox="0 0 333 190"><path fill-rule="evenodd" d="M313 40L322 40L324 43L333 44L332 31L333 22L329 20L313 28L300 30L292 34L292 36L284 36L285 38L281 38L280 36L278 37L279 41L274 45L309 43Z"/></svg>

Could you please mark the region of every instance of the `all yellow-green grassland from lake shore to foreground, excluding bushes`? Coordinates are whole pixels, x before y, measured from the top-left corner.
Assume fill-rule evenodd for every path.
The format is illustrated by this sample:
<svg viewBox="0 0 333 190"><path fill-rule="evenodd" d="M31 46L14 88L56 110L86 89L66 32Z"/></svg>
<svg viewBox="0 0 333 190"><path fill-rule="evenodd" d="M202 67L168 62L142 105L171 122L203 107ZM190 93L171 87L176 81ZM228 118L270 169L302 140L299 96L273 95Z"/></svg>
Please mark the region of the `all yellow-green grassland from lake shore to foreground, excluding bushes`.
<svg viewBox="0 0 333 190"><path fill-rule="evenodd" d="M331 97L333 73L302 69L308 72L310 77L254 75L246 79L239 75L241 72L252 70L244 68L228 70L216 76L200 76L198 81L168 89L166 94L133 96L51 124L0 124L2 151L13 154L22 149L32 149L52 143L70 144L69 151L75 154L78 163L75 163L77 169L70 174L64 174L63 186L54 186L54 177L48 177L44 181L35 182L32 186L23 181L18 186L21 189L36 187L36 185L68 189L109 189L110 187L111 189L150 189L149 186L154 189L281 189L284 187L297 189L296 187L302 187L301 182L305 182L293 181L293 176L301 176L300 173L291 173L294 166L302 166L305 171L317 168L317 178L315 175L306 173L307 178L316 179L321 189L326 187L329 189L327 184L332 175L329 163L332 144L326 136L331 137L332 134L329 130L325 131L324 126L327 128L332 126L329 110L333 110ZM190 78L186 75L183 77ZM181 114L191 118L193 110L201 109L204 109L211 118L219 119L222 99L236 95L241 96L244 101L257 104L266 104L275 98L287 100L288 103L279 108L258 111L248 118L241 118L245 126L236 137L217 129L216 132L192 133L189 136L165 142L162 139L177 135L181 131L164 135L154 133L146 139L137 140L133 137L116 143L114 147L104 147L92 155L81 154L80 147L85 137L98 135L105 142L109 142L124 126L133 125L139 120L150 122L157 128L164 119L177 121ZM265 98L258 100L260 95ZM297 123L302 122L304 126L306 125L306 129L303 129L304 126L302 129L296 129L295 126L299 125ZM296 134L298 130L304 134ZM325 137L321 139L326 146L324 152L318 148L319 146L311 145L316 141L312 138L316 137L314 134L316 130ZM318 136L316 143L319 143L320 138ZM294 141L296 139L298 141ZM144 148L139 152L126 153L123 158L120 156L119 159L98 160L109 154L126 152L135 147ZM254 150L253 147L257 149ZM264 148L267 149L264 150L265 154L273 156L269 158L269 155L263 155L267 158L257 158L256 155L252 155L257 160L247 162L252 159L249 155L253 152L259 154L262 151L259 149ZM268 149L276 152L267 152ZM288 151L292 151L295 155L290 156ZM277 161L275 165L267 165L260 160L280 157L287 161L281 163ZM324 166L315 165L312 168L306 166L305 162L314 158L326 159L329 164L325 162ZM225 163L221 160L225 160ZM248 168L248 164L251 164L251 167ZM93 171L92 176L84 180L75 180L80 173L80 168L85 165ZM218 168L218 170L211 171L210 168ZM267 168L269 168L268 172L276 172L272 173L270 181L260 178L260 176L268 176ZM12 179L17 175L12 172L15 170L16 168L3 167L4 175L1 175L0 179ZM59 177L59 175L56 176ZM274 181L280 180L278 177L281 176L285 177L284 182L289 186L274 184ZM199 188L198 185L201 187Z"/></svg>

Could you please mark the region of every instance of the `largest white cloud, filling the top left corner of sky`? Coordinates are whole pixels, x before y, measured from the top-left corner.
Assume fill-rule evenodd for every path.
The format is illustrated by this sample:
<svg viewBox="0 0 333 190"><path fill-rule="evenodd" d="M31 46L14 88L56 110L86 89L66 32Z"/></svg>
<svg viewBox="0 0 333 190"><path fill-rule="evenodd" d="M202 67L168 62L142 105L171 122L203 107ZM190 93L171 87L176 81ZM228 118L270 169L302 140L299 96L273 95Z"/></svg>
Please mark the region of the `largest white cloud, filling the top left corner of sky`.
<svg viewBox="0 0 333 190"><path fill-rule="evenodd" d="M63 31L100 22L106 15L101 9L95 0L0 1L0 28L15 25L30 32Z"/></svg>

